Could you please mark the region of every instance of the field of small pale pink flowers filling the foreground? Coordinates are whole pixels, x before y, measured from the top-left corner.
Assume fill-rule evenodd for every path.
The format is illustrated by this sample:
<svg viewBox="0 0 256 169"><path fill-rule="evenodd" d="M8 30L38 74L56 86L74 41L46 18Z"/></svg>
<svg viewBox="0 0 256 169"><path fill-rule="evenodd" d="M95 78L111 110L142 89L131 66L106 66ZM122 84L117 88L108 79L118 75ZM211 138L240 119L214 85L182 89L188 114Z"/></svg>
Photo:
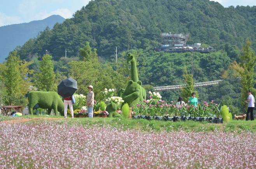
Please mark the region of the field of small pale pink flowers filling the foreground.
<svg viewBox="0 0 256 169"><path fill-rule="evenodd" d="M256 168L256 134L1 123L0 168Z"/></svg>

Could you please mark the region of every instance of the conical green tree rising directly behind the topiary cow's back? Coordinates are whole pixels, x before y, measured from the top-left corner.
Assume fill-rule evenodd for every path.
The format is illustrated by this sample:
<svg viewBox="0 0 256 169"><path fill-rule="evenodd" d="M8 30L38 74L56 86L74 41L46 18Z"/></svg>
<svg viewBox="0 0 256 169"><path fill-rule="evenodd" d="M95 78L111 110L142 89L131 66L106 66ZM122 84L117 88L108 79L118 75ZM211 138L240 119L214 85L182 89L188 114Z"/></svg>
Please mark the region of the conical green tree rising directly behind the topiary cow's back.
<svg viewBox="0 0 256 169"><path fill-rule="evenodd" d="M42 61L39 61L39 71L35 73L34 84L39 91L55 91L56 78L53 71L52 56L45 54Z"/></svg>

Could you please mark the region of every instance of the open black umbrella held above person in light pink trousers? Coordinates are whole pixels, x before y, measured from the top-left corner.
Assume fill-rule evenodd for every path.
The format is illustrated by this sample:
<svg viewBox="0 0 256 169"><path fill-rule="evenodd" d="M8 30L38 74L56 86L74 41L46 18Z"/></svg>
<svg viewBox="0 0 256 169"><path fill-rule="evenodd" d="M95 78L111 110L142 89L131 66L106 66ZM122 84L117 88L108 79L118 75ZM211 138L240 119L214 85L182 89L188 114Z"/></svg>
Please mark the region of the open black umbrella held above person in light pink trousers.
<svg viewBox="0 0 256 169"><path fill-rule="evenodd" d="M77 90L77 82L73 78L66 78L58 85L58 94L63 98L72 96Z"/></svg>

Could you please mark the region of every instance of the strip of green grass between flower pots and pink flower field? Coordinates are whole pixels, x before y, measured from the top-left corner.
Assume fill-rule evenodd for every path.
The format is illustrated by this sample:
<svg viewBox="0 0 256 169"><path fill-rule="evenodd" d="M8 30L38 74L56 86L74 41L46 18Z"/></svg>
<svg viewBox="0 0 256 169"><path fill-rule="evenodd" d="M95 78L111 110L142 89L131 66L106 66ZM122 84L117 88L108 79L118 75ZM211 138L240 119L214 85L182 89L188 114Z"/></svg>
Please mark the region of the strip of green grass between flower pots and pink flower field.
<svg viewBox="0 0 256 169"><path fill-rule="evenodd" d="M223 124L211 124L209 122L171 122L145 119L125 119L125 118L67 118L62 116L47 116L47 115L26 115L23 117L6 117L0 116L0 122L9 120L21 120L24 123L38 123L45 120L54 120L57 124L68 125L85 125L87 127L93 126L110 126L122 130L135 129L142 131L225 131L225 132L241 132L250 131L256 132L256 120L241 121L231 120Z"/></svg>

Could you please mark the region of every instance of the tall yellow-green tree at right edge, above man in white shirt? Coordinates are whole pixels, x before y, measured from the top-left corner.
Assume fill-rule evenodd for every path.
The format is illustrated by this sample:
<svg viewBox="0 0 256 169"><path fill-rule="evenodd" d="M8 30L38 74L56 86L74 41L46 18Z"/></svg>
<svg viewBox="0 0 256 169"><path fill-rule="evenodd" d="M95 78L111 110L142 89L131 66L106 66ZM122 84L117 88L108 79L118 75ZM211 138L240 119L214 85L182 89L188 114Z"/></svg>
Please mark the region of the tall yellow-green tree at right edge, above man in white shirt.
<svg viewBox="0 0 256 169"><path fill-rule="evenodd" d="M251 42L249 40L246 41L243 47L243 54L239 57L240 63L234 62L231 64L231 68L235 70L237 75L241 77L241 99L242 104L244 104L244 100L247 98L247 91L251 90L254 94L256 89L254 88L255 84L255 65L256 65L256 56L254 51L251 49Z"/></svg>

